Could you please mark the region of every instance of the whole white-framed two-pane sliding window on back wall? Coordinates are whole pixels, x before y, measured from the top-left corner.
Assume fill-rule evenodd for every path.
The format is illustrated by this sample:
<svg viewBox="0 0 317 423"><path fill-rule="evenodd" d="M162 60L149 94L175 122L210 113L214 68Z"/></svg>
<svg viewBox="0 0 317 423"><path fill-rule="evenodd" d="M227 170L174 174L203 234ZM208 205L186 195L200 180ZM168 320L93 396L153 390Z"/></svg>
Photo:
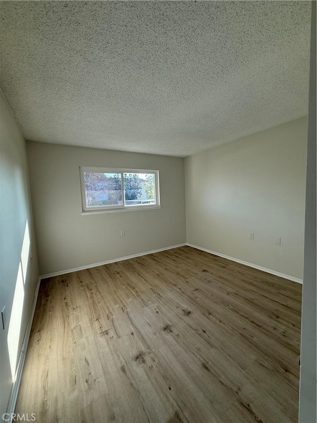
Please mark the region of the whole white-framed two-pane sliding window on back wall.
<svg viewBox="0 0 317 423"><path fill-rule="evenodd" d="M159 171L79 168L83 212L159 207Z"/></svg>

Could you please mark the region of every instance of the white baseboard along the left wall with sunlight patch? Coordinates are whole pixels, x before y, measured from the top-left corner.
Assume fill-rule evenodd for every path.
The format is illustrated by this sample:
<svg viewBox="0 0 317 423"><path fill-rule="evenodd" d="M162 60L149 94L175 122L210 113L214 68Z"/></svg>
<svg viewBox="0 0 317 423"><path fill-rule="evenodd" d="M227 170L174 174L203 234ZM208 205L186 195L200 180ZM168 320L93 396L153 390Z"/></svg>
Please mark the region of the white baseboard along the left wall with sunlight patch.
<svg viewBox="0 0 317 423"><path fill-rule="evenodd" d="M20 387L20 383L21 383L21 377L22 377L22 371L23 371L23 366L24 366L24 362L25 362L26 351L27 351L27 348L28 348L28 343L29 343L29 338L30 338L30 333L31 333L31 328L32 328L32 323L33 323L33 317L34 317L36 303L37 303L38 295L39 295L40 283L41 283L41 277L39 277L37 285L36 285L36 289L35 289L35 293L34 293L34 297L33 297L33 302L32 302L32 305L31 305L31 312L30 312L30 315L29 315L28 323L26 325L24 338L23 338L23 341L22 341L22 348L21 348L19 359L18 359L18 365L17 365L17 368L16 368L15 377L14 377L14 381L13 381L13 384L12 384L11 393L10 393L10 397L9 397L9 402L8 402L8 406L7 406L7 409L6 409L6 413L8 415L10 415L10 419L8 420L8 422L12 422L11 417L12 417L12 414L14 413L16 401L17 401L17 398L18 398L18 392L19 392L19 387Z"/></svg>

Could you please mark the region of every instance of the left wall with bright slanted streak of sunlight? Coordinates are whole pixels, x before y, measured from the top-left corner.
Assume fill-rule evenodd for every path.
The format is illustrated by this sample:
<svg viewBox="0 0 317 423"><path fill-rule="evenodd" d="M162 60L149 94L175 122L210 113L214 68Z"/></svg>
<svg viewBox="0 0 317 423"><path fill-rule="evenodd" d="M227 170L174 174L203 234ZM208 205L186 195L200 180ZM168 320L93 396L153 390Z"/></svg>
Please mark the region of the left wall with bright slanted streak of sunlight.
<svg viewBox="0 0 317 423"><path fill-rule="evenodd" d="M8 351L8 329L13 329L11 360L15 362L12 351L16 351L17 360L21 343L30 316L36 284L38 265L30 205L28 170L24 138L13 115L0 92L0 309L5 306L7 325L0 329L0 367L1 367L1 409L0 416L6 411L12 387L10 358ZM26 223L30 236L30 251L22 251ZM25 237L27 240L28 238ZM28 245L25 242L24 245ZM32 264L29 254L33 256ZM17 289L16 289L17 287ZM14 307L12 309L15 295ZM11 318L12 317L12 318ZM14 325L14 326L12 326ZM13 336L14 338L14 336ZM10 337L10 340L12 338Z"/></svg>

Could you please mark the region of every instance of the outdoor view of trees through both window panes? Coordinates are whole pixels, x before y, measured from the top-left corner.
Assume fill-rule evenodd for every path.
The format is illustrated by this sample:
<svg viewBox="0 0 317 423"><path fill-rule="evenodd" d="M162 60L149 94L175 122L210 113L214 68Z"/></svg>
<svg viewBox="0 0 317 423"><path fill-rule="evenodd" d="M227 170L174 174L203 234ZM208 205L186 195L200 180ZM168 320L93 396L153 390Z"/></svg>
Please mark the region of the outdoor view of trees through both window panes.
<svg viewBox="0 0 317 423"><path fill-rule="evenodd" d="M84 172L87 207L155 204L155 175Z"/></svg>

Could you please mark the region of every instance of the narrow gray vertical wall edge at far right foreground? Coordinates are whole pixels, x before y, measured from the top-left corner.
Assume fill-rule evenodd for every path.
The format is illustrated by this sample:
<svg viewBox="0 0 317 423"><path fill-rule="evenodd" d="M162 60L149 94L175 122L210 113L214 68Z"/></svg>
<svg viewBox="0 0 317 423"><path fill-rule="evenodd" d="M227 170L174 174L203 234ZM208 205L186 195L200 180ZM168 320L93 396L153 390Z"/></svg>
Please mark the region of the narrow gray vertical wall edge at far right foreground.
<svg viewBox="0 0 317 423"><path fill-rule="evenodd" d="M312 2L299 422L316 416L316 1Z"/></svg>

